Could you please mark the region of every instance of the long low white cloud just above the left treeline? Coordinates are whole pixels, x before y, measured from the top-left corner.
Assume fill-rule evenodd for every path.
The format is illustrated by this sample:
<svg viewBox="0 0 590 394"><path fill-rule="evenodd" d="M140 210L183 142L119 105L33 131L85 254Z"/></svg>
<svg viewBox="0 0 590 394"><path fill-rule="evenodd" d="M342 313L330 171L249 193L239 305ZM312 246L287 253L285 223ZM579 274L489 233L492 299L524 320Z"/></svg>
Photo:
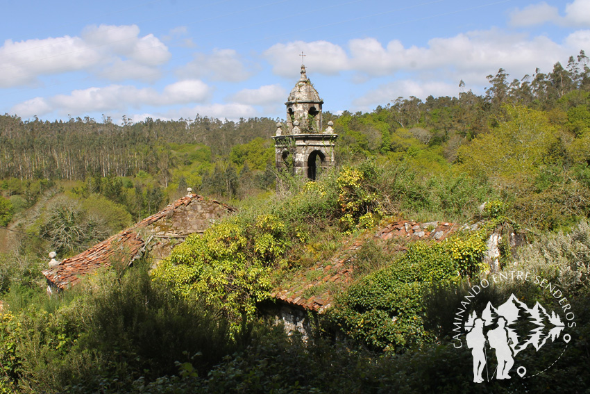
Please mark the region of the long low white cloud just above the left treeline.
<svg viewBox="0 0 590 394"><path fill-rule="evenodd" d="M198 103L206 101L209 95L208 85L198 80L178 81L167 85L162 92L152 88L136 88L133 85L109 85L104 88L74 90L69 95L36 97L12 107L11 113L31 117L53 111L58 111L61 115L126 111L130 107Z"/></svg>

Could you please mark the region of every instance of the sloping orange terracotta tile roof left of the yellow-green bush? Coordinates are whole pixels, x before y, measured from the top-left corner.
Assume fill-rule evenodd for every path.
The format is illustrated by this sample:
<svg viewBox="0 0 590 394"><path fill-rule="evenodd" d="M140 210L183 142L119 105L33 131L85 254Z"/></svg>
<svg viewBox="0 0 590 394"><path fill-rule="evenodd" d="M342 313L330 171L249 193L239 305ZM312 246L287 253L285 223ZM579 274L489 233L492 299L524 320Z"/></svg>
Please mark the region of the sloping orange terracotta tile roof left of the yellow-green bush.
<svg viewBox="0 0 590 394"><path fill-rule="evenodd" d="M43 271L43 274L51 283L61 289L68 288L80 281L80 277L96 270L103 265L110 266L116 261L132 263L144 252L146 240L142 238L141 229L150 224L158 222L162 218L169 217L180 206L187 206L191 202L205 201L201 195L190 195L182 197L169 204L162 211L146 217L141 222L135 224L120 233L115 234L101 243L97 243L90 249L85 250L76 256L65 258L53 268ZM223 206L228 212L235 212L235 208L210 200L213 204ZM149 240L147 240L149 242Z"/></svg>

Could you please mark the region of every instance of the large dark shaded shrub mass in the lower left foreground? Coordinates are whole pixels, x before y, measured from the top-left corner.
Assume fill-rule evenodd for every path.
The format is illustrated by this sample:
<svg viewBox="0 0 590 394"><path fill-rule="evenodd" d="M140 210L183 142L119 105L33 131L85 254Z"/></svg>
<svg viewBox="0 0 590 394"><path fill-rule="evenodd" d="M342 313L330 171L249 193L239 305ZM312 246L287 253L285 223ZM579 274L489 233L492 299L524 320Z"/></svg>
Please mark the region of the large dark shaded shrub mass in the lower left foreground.
<svg viewBox="0 0 590 394"><path fill-rule="evenodd" d="M140 377L174 374L176 361L192 360L205 375L239 349L216 310L153 282L146 265L121 278L101 272L78 286L52 311L31 304L0 315L0 362L21 391L126 391ZM236 339L247 343L250 335L246 329Z"/></svg>

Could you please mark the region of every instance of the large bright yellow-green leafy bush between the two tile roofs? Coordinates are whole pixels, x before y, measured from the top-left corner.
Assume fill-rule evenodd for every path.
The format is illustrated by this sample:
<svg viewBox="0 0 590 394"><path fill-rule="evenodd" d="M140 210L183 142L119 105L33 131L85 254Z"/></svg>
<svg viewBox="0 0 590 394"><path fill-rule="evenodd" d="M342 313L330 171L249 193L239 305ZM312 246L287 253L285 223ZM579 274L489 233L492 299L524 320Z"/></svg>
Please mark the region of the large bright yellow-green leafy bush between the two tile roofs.
<svg viewBox="0 0 590 394"><path fill-rule="evenodd" d="M255 316L256 304L269 297L271 274L285 268L288 245L285 224L276 216L260 215L253 223L226 220L203 236L189 236L153 277L177 295L202 297L239 332Z"/></svg>

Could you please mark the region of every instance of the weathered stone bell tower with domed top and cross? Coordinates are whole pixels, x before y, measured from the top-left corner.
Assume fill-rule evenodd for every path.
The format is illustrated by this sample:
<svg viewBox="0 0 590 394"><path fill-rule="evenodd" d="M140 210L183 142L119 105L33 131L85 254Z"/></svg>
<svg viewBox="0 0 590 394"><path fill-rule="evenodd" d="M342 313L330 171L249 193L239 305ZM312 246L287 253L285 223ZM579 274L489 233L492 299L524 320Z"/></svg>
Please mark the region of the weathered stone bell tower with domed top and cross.
<svg viewBox="0 0 590 394"><path fill-rule="evenodd" d="M317 90L301 65L301 78L287 98L287 122L277 123L275 141L276 167L287 169L308 179L316 179L319 169L334 165L334 145L338 135L332 122L324 130Z"/></svg>

